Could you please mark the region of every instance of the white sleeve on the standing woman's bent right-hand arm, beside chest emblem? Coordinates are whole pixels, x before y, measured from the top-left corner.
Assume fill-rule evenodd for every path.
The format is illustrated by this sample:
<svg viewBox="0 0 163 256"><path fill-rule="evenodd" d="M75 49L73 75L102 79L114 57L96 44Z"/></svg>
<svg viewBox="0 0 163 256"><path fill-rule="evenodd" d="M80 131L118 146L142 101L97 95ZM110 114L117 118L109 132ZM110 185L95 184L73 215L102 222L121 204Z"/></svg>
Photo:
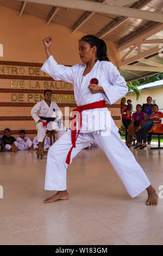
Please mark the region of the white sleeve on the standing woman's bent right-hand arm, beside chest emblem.
<svg viewBox="0 0 163 256"><path fill-rule="evenodd" d="M102 84L102 87L106 94L106 101L111 105L128 93L128 86L115 65L111 62L105 63L105 65L109 84Z"/></svg>

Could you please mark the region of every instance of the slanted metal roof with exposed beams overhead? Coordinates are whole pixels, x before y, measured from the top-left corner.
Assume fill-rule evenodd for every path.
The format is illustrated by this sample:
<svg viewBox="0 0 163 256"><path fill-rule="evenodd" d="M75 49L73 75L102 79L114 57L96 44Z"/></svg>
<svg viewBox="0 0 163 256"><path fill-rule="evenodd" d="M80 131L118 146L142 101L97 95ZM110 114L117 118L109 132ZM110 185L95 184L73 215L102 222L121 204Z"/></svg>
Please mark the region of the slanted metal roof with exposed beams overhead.
<svg viewBox="0 0 163 256"><path fill-rule="evenodd" d="M17 10L20 16L26 13L47 25L66 26L70 33L78 30L115 42L122 58L118 68L127 82L163 72L163 54L158 53L158 46L163 47L162 0L0 0L0 4ZM127 52L130 54L123 59Z"/></svg>

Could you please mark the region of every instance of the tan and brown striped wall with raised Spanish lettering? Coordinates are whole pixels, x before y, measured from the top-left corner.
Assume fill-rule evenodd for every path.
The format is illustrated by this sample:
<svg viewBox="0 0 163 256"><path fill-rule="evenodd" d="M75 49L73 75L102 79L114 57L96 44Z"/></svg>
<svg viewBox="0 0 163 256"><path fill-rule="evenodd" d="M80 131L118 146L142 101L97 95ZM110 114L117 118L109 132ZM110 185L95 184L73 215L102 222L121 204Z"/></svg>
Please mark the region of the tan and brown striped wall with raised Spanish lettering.
<svg viewBox="0 0 163 256"><path fill-rule="evenodd" d="M78 40L84 33L71 34L67 27L55 23L47 26L43 19L27 14L19 17L18 11L2 5L0 7L0 44L3 45L3 56L0 54L0 136L9 127L14 136L17 136L20 129L24 129L33 138L36 131L30 110L42 99L43 90L52 89L53 99L64 116L76 107L73 85L55 82L40 71L46 60L42 39L52 36L51 52L57 62L74 65L80 62ZM119 58L117 45L110 41L106 41L106 45L108 57L116 65ZM109 106L109 110L116 125L120 127L120 100Z"/></svg>

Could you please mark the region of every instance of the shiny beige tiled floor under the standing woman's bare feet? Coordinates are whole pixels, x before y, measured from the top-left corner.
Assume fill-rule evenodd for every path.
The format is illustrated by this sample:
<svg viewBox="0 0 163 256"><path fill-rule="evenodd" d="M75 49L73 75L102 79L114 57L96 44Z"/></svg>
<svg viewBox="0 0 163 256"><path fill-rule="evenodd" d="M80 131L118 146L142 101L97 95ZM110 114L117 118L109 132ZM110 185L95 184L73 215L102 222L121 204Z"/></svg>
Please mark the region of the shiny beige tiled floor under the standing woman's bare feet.
<svg viewBox="0 0 163 256"><path fill-rule="evenodd" d="M163 150L132 148L159 192ZM70 199L43 204L46 157L0 154L1 245L163 245L163 198L146 206L147 192L130 198L101 149L82 150L67 170ZM163 195L163 192L162 192Z"/></svg>

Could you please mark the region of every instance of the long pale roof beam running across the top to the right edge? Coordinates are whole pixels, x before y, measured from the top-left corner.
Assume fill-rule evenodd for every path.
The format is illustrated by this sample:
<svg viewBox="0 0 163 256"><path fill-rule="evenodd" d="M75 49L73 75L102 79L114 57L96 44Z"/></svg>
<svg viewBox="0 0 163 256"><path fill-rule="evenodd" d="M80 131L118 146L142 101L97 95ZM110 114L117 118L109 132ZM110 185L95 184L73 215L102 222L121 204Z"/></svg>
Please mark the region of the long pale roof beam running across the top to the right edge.
<svg viewBox="0 0 163 256"><path fill-rule="evenodd" d="M143 19L155 22L163 22L163 14L153 13L152 11L137 10L128 7L119 7L104 3L97 3L85 0L27 0L30 3L55 5L56 7L66 7L77 10L95 11L103 14L114 14L136 19Z"/></svg>

